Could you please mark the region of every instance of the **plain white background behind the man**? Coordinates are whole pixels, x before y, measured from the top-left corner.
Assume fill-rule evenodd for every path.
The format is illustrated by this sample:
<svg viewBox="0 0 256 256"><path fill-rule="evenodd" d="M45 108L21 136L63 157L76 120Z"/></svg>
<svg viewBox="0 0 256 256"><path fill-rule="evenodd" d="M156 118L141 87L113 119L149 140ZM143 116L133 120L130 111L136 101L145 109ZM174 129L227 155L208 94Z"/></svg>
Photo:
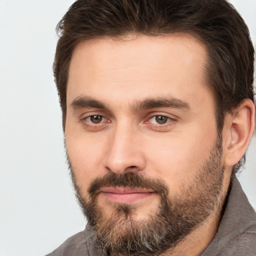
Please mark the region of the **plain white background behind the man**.
<svg viewBox="0 0 256 256"><path fill-rule="evenodd" d="M44 255L82 230L52 76L55 25L73 0L0 0L0 256ZM231 1L256 42L256 0ZM256 208L256 139L242 186Z"/></svg>

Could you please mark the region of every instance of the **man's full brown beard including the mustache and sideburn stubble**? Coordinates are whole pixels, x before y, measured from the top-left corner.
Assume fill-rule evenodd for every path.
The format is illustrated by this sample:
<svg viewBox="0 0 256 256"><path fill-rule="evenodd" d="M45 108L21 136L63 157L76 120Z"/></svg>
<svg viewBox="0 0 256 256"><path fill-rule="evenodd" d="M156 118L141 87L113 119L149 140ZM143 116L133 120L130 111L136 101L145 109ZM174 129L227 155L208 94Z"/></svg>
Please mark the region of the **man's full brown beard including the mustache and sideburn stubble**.
<svg viewBox="0 0 256 256"><path fill-rule="evenodd" d="M104 253L147 256L174 249L221 206L224 170L221 158L222 140L219 136L209 157L198 167L196 176L191 183L180 187L178 195L172 195L163 180L134 171L110 172L97 177L91 181L88 195L84 196L69 160L68 163L76 197ZM103 187L153 189L159 195L158 208L147 212L146 219L136 220L137 204L112 203L111 214L106 214L104 207L98 204L97 191Z"/></svg>

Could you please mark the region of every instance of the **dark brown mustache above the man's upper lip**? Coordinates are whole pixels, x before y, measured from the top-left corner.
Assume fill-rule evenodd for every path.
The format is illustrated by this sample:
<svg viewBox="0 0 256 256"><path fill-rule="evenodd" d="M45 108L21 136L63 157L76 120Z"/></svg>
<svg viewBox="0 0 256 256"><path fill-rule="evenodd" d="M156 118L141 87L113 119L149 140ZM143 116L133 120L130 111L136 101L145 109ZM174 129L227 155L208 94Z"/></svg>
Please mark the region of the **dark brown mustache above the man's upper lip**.
<svg viewBox="0 0 256 256"><path fill-rule="evenodd" d="M122 174L111 172L102 177L96 177L91 181L87 192L90 197L94 197L97 191L103 187L153 189L162 198L165 198L169 192L168 187L163 180L145 177L144 174L137 172L127 172Z"/></svg>

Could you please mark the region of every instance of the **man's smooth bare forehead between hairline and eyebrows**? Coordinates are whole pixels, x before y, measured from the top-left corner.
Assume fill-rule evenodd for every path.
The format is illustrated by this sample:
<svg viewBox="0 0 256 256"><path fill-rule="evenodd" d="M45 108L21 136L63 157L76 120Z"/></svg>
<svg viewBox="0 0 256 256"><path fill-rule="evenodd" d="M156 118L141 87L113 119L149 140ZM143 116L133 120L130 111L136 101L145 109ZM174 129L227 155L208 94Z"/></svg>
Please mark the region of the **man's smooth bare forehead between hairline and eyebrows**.
<svg viewBox="0 0 256 256"><path fill-rule="evenodd" d="M116 103L165 93L193 100L195 92L210 93L205 60L204 44L189 34L82 41L70 61L67 105L81 95Z"/></svg>

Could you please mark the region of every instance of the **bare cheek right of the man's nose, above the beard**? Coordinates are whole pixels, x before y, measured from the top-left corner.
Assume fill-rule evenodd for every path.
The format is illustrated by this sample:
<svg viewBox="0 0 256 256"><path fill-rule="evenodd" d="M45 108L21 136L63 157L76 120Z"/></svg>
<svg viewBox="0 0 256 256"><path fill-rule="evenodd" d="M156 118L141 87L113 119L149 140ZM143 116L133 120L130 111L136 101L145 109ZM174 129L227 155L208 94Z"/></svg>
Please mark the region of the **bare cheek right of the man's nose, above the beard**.
<svg viewBox="0 0 256 256"><path fill-rule="evenodd" d="M207 139L205 139L207 138ZM215 131L206 136L204 131L175 134L158 140L148 148L147 168L151 175L161 178L174 193L183 184L191 184L202 163L209 157L215 143Z"/></svg>

